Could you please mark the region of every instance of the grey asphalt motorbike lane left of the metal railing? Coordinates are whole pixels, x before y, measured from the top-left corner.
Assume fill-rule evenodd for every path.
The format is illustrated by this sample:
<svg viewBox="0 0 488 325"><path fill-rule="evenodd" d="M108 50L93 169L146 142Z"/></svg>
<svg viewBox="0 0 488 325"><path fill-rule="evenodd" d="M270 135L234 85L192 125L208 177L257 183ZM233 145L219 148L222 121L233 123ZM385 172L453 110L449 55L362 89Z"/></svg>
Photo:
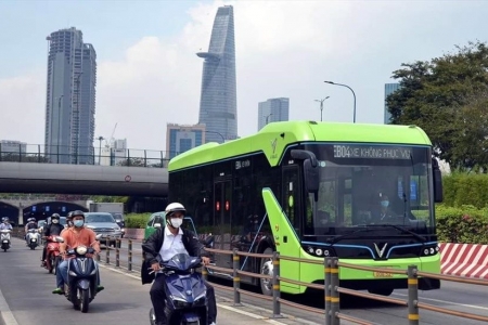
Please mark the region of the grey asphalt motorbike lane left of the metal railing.
<svg viewBox="0 0 488 325"><path fill-rule="evenodd" d="M40 268L40 255L41 250L30 250L16 238L12 249L0 251L0 325L149 324L150 286L142 286L137 274L111 270L101 263L105 290L97 295L88 313L81 313L65 297L51 294L55 276ZM217 303L220 325L310 324L294 318L271 320L270 310L233 307L220 295Z"/></svg>

